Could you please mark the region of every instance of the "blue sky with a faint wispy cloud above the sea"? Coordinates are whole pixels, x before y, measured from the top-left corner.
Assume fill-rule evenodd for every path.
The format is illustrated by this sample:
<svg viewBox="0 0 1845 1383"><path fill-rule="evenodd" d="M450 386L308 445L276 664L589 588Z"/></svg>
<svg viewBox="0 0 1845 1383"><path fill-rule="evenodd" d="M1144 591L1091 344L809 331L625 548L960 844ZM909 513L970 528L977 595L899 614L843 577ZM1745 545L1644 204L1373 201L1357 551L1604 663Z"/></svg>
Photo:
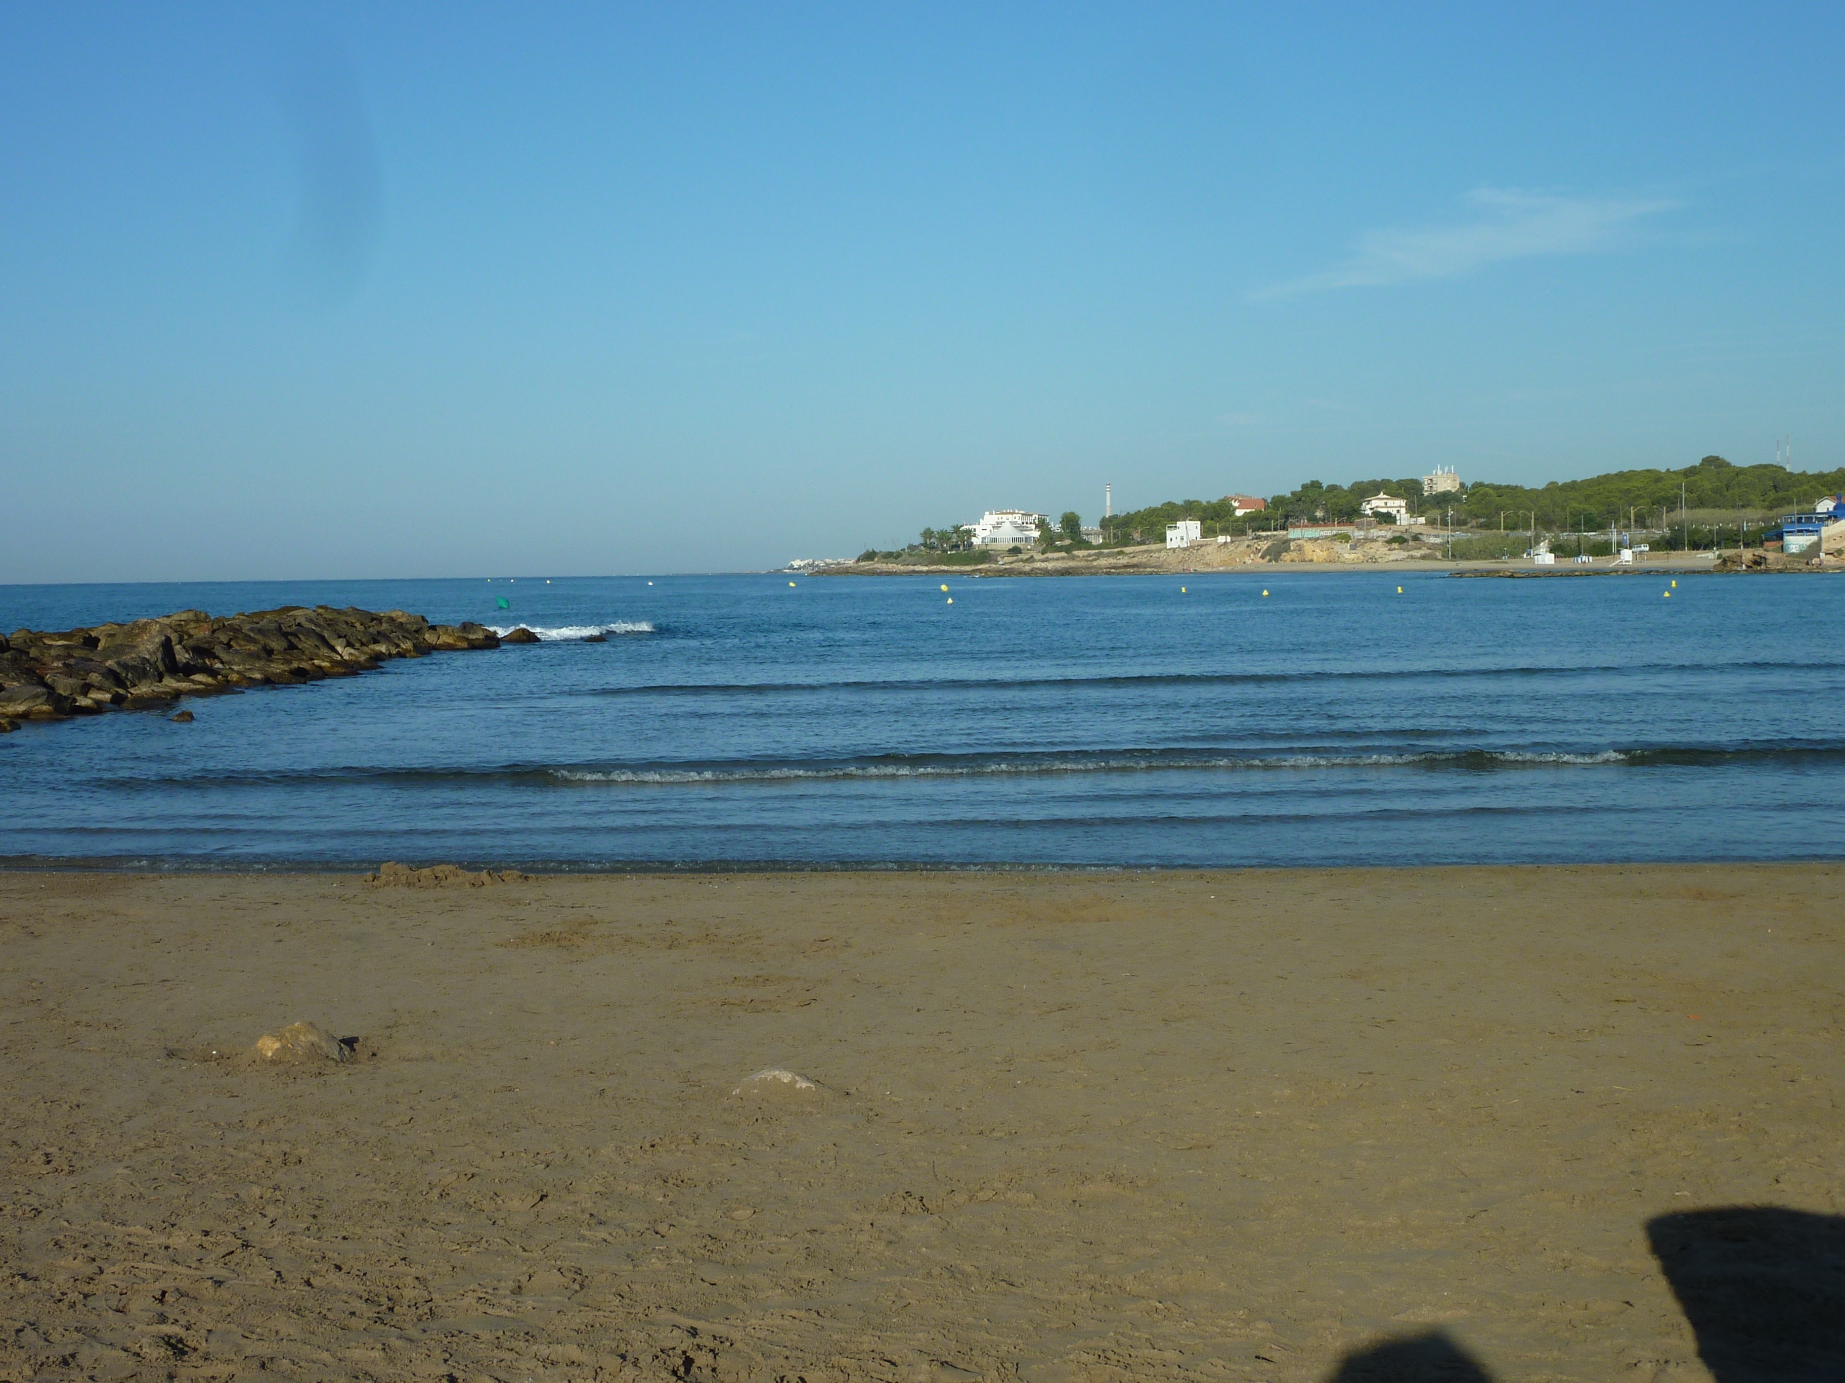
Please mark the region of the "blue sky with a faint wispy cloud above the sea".
<svg viewBox="0 0 1845 1383"><path fill-rule="evenodd" d="M1845 463L1845 7L0 6L0 581Z"/></svg>

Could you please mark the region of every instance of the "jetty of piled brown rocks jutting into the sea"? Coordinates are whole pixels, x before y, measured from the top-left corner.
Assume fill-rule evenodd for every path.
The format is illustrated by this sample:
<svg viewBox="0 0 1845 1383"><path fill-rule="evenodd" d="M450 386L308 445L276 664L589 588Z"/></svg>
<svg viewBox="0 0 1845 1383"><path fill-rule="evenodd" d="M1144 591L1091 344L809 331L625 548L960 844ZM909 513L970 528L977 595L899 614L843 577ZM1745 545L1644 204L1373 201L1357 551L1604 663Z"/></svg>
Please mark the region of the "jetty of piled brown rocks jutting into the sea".
<svg viewBox="0 0 1845 1383"><path fill-rule="evenodd" d="M0 636L0 730L26 719L170 710L179 697L352 677L386 658L496 649L485 625L432 625L421 614L315 605ZM190 717L186 717L190 719Z"/></svg>

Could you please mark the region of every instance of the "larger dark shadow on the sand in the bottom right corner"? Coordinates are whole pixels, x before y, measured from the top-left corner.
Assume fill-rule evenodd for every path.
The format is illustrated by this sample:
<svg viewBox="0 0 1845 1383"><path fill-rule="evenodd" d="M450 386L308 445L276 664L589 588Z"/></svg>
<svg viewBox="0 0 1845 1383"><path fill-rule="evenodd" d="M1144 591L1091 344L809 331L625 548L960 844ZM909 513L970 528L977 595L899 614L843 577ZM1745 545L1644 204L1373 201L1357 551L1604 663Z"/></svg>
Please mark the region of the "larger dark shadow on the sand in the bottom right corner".
<svg viewBox="0 0 1845 1383"><path fill-rule="evenodd" d="M1646 1237L1718 1383L1845 1379L1845 1217L1720 1206Z"/></svg>

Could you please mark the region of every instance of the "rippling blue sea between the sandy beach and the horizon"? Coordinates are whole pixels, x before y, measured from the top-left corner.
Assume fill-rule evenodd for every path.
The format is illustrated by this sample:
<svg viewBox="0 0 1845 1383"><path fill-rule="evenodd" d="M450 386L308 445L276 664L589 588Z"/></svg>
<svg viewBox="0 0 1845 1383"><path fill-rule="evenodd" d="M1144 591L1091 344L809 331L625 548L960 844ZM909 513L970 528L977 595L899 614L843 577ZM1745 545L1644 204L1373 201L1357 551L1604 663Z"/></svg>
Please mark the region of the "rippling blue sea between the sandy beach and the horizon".
<svg viewBox="0 0 1845 1383"><path fill-rule="evenodd" d="M0 736L0 857L1845 854L1841 579L1681 575L1670 599L1655 575L941 583L0 586L0 629L327 603L548 636L196 699L194 725L151 712L26 725ZM607 644L583 644L592 629Z"/></svg>

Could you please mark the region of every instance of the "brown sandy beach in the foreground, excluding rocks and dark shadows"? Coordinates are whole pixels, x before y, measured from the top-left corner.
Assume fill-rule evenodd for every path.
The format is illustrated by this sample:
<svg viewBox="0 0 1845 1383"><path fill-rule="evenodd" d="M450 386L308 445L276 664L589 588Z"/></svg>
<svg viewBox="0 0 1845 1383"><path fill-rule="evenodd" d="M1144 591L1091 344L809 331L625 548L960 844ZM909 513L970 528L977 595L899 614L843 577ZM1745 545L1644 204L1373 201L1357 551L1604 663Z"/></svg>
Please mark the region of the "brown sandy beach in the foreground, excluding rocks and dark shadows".
<svg viewBox="0 0 1845 1383"><path fill-rule="evenodd" d="M0 1377L1710 1377L1646 1223L1839 1213L1841 902L0 876Z"/></svg>

